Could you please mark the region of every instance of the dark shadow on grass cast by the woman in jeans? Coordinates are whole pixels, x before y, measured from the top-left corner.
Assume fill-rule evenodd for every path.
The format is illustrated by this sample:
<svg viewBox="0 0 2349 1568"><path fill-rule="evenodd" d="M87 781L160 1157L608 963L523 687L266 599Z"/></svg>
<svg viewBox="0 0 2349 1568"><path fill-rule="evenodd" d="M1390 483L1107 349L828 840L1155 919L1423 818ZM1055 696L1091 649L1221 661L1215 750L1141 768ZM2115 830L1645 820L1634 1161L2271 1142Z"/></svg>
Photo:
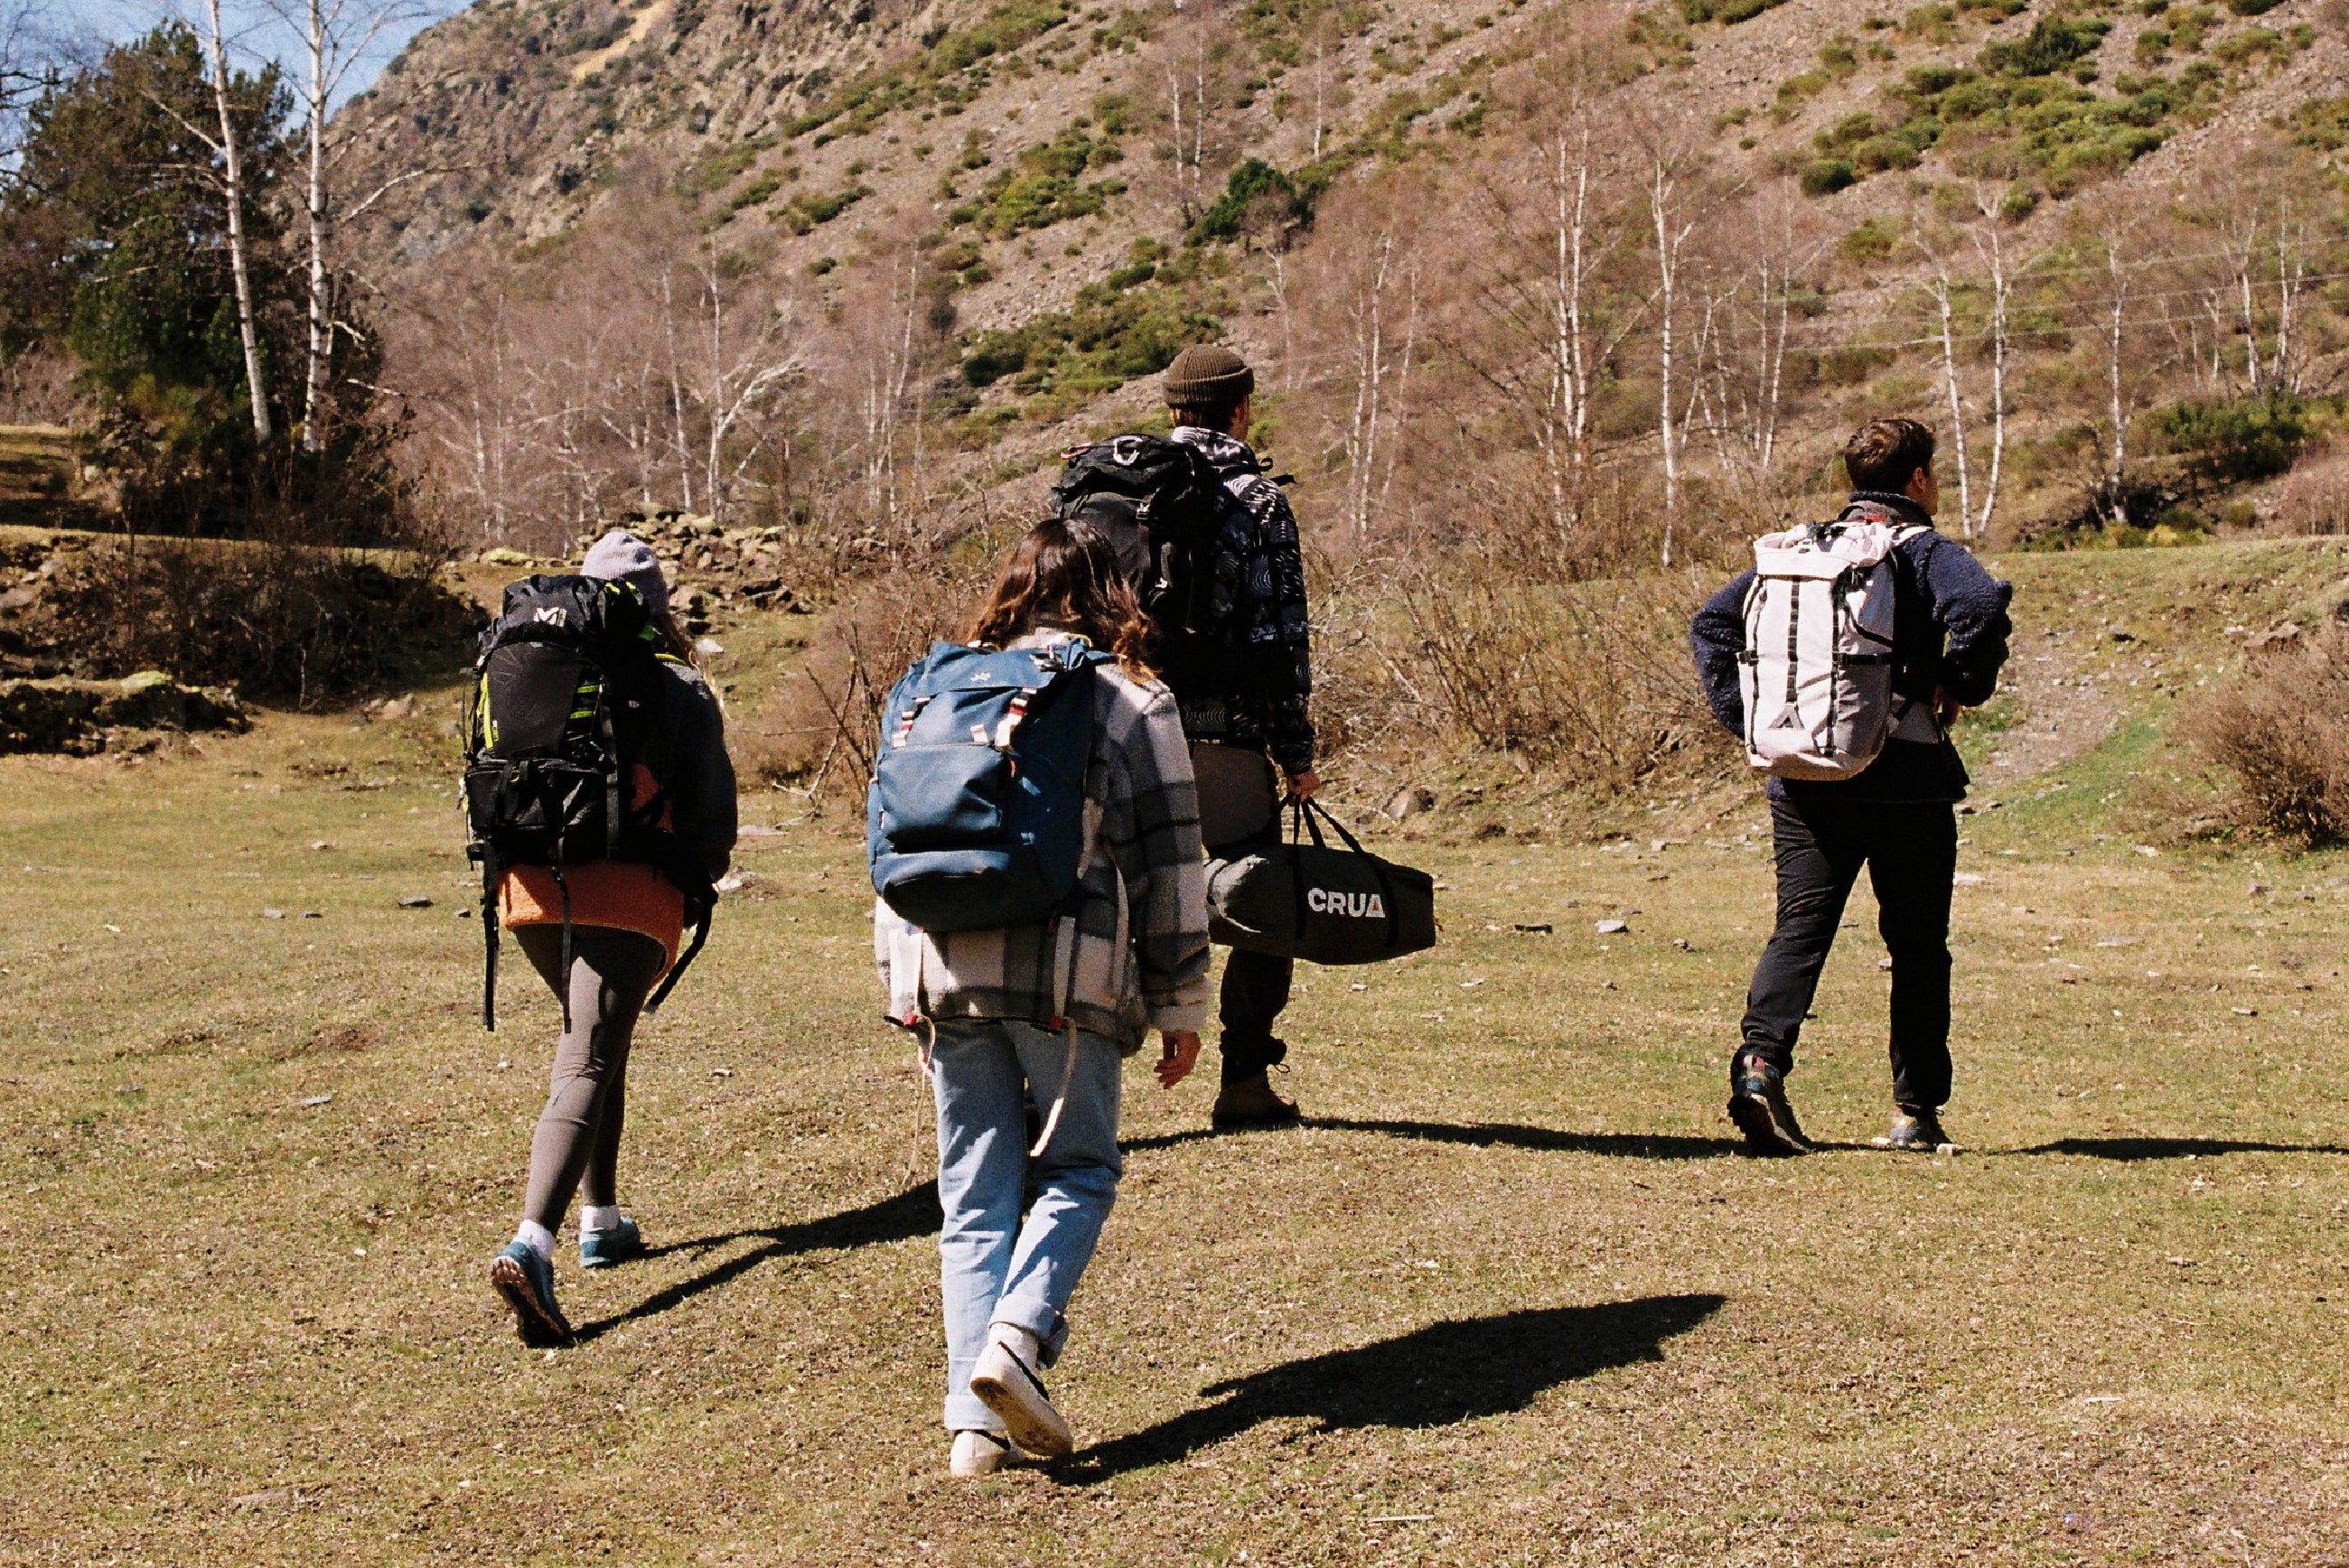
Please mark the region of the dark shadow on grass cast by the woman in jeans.
<svg viewBox="0 0 2349 1568"><path fill-rule="evenodd" d="M1442 1427L1522 1411L1560 1383L1633 1361L1661 1361L1668 1338L1687 1333L1724 1303L1727 1296L1642 1296L1428 1324L1374 1345L1217 1383L1203 1392L1221 1394L1221 1401L1088 1448L1055 1469L1078 1486L1106 1481L1283 1418L1348 1432Z"/></svg>

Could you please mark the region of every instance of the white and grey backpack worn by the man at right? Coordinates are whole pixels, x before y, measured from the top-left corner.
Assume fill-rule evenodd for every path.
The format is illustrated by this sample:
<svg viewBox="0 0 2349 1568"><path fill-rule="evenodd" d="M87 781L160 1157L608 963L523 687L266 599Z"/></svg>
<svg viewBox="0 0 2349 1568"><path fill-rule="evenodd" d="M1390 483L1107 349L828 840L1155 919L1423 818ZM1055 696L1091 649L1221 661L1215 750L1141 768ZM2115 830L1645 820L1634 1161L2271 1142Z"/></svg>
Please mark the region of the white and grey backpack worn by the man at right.
<svg viewBox="0 0 2349 1568"><path fill-rule="evenodd" d="M1849 779L1884 742L1940 739L1893 695L1893 549L1914 523L1846 519L1755 540L1745 594L1745 761L1781 779Z"/></svg>

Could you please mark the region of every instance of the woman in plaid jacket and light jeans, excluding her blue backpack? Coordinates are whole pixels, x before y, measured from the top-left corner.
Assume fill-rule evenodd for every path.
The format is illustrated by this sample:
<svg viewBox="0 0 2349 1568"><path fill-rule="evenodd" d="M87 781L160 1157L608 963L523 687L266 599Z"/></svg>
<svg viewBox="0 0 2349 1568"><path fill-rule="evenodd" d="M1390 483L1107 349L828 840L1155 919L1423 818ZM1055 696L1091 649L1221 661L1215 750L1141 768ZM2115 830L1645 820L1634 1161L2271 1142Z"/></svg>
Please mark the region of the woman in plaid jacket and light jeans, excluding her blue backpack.
<svg viewBox="0 0 2349 1568"><path fill-rule="evenodd" d="M1158 1030L1158 1082L1174 1087L1207 1016L1207 873L1182 716L1142 664L1146 622L1109 542L1045 521L1019 540L970 641L1071 636L1118 655L1095 676L1073 941L1059 920L923 932L874 904L888 1016L935 1026L947 1430L963 1476L994 1472L1012 1444L1073 1448L1038 1373L1069 1340L1069 1296L1118 1192L1123 1059Z"/></svg>

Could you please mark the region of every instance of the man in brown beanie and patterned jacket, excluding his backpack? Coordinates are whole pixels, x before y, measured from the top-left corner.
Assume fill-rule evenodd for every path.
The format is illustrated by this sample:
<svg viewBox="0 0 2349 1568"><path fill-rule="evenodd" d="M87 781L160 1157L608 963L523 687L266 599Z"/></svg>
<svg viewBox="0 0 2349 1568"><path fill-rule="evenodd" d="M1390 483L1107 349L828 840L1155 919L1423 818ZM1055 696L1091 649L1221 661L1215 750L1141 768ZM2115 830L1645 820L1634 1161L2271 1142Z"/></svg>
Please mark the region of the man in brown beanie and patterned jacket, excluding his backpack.
<svg viewBox="0 0 2349 1568"><path fill-rule="evenodd" d="M1231 505L1212 547L1212 674L1170 676L1198 775L1200 836L1217 859L1280 843L1280 798L1313 775L1313 648L1297 514L1247 446L1257 376L1221 345L1193 345L1165 373L1174 441L1198 451ZM1276 770L1278 768L1278 777ZM1285 1127L1297 1103L1273 1091L1290 1047L1273 1035L1290 1005L1287 958L1233 951L1224 965L1219 1129Z"/></svg>

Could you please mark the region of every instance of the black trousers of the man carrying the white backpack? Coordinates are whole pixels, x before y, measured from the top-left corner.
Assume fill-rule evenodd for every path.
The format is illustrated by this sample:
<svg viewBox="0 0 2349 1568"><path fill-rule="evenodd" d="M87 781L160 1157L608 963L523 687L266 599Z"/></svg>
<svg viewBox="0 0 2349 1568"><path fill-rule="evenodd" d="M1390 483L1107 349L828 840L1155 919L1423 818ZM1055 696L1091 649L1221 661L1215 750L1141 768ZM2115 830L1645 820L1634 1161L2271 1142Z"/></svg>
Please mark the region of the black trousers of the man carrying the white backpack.
<svg viewBox="0 0 2349 1568"><path fill-rule="evenodd" d="M1950 887L1957 812L1945 803L1771 800L1778 925L1745 993L1738 1054L1781 1073L1818 993L1851 885L1867 866L1877 930L1893 960L1893 1103L1938 1110L1950 1099ZM1731 1063L1736 1073L1736 1063Z"/></svg>

